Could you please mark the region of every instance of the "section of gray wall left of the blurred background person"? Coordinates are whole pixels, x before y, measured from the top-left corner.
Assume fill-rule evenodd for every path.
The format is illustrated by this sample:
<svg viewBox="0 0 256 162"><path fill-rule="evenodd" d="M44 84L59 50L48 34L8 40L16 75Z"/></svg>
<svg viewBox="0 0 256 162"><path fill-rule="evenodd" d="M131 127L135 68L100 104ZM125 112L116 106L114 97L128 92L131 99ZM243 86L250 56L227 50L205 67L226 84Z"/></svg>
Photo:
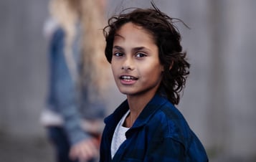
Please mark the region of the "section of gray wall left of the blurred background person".
<svg viewBox="0 0 256 162"><path fill-rule="evenodd" d="M39 135L47 85L47 1L0 2L0 131Z"/></svg>

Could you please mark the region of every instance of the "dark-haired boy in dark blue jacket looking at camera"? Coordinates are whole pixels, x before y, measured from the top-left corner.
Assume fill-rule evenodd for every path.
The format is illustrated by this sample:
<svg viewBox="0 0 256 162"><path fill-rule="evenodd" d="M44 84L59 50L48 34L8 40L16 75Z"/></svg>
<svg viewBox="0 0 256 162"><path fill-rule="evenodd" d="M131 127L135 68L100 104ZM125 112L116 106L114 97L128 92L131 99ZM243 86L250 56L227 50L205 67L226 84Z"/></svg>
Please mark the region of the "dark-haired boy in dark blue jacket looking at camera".
<svg viewBox="0 0 256 162"><path fill-rule="evenodd" d="M127 100L105 119L100 161L208 161L174 107L190 66L181 35L152 5L113 16L104 29L105 56Z"/></svg>

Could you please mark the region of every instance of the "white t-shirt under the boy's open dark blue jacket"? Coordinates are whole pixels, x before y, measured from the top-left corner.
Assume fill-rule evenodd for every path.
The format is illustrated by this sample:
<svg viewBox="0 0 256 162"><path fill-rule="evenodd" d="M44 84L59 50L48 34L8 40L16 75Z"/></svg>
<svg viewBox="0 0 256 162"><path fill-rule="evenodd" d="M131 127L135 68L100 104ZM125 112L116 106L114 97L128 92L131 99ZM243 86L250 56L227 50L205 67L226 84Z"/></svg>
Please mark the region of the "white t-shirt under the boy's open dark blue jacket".
<svg viewBox="0 0 256 162"><path fill-rule="evenodd" d="M123 143L123 141L126 140L125 133L129 128L126 128L123 126L123 123L125 122L125 118L130 113L130 110L128 110L125 115L123 115L123 118L119 121L118 125L115 128L115 132L113 135L113 139L111 142L111 157L113 158L115 156L116 151L118 151L118 148Z"/></svg>

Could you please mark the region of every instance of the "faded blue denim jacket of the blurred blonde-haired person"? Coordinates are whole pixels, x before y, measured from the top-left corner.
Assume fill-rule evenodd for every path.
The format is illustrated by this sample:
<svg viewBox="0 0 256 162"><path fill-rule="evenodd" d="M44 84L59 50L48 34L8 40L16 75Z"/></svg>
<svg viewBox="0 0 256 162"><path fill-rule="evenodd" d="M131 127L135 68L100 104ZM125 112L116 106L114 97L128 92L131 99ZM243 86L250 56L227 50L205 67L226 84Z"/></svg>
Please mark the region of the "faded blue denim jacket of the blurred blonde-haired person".
<svg viewBox="0 0 256 162"><path fill-rule="evenodd" d="M81 70L81 34L77 33L72 46L72 57L75 60L75 66L79 74ZM77 91L77 85L75 80L72 80L72 74L67 66L67 59L65 59L64 44L65 32L58 28L54 32L49 46L50 80L47 107L62 116L63 127L73 145L88 137L88 134L81 128L81 120L101 119L103 121L105 108L102 101L98 100L92 103L87 100L86 86Z"/></svg>

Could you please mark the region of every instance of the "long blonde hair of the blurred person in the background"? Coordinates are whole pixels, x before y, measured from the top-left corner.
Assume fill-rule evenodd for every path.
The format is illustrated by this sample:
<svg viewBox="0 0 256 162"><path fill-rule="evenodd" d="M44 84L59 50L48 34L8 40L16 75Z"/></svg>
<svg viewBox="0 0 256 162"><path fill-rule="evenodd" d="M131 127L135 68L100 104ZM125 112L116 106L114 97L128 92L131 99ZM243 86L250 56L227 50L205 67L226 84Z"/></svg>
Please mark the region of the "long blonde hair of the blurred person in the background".
<svg viewBox="0 0 256 162"><path fill-rule="evenodd" d="M95 0L52 0L49 11L65 31L65 57L72 77L89 88L90 99L103 96L109 87L110 65L105 60L105 19L102 6ZM82 25L77 33L76 24ZM82 75L77 75L72 61L72 43L76 34L82 34Z"/></svg>

